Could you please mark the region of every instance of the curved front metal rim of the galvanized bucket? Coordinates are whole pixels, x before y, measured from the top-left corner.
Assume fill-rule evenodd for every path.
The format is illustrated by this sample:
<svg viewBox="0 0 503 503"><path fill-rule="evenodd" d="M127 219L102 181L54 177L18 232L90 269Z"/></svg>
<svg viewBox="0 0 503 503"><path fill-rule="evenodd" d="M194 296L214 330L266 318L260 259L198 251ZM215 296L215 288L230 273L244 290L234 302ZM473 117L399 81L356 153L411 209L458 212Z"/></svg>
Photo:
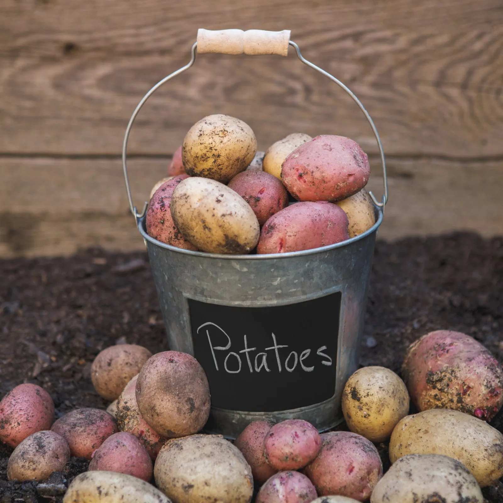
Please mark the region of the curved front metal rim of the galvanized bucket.
<svg viewBox="0 0 503 503"><path fill-rule="evenodd" d="M140 234L142 235L143 239L145 241L148 241L156 246L159 246L160 248L165 248L170 251L175 251L177 253L181 253L184 255L191 255L193 257L204 257L206 259L220 259L220 260L267 260L267 259L288 259L291 257L302 257L306 255L314 255L317 253L323 253L324 251L330 251L335 248L343 248L344 246L348 246L350 244L353 244L357 241L360 241L361 239L366 238L368 235L372 234L373 232L376 232L379 226L382 223L383 220L383 211L381 208L374 206L375 211L376 211L376 223L372 225L369 229L367 229L365 232L362 232L358 236L351 237L349 239L346 239L345 241L341 241L339 243L334 243L334 244L328 244L326 246L319 246L318 248L310 248L307 250L299 250L299 251L288 251L287 253L273 253L273 254L263 254L263 255L230 255L230 254L217 254L217 253L207 253L206 251L194 251L194 250L188 250L185 248L179 248L178 246L172 246L171 244L166 244L161 241L158 241L157 239L154 239L153 237L150 237L146 229L144 228L145 225L145 219L146 219L146 213L142 217L138 218L137 224L138 224L138 230L140 231ZM146 245L146 242L145 242Z"/></svg>

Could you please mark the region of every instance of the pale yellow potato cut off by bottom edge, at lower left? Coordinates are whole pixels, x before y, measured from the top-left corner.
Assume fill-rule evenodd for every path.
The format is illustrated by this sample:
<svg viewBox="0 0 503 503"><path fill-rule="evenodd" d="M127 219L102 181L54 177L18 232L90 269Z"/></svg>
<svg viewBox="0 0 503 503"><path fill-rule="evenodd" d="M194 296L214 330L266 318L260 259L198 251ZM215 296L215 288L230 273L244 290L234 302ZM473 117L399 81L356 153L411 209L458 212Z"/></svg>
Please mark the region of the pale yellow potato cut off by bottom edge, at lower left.
<svg viewBox="0 0 503 503"><path fill-rule="evenodd" d="M148 482L124 473L84 472L66 491L63 503L172 503Z"/></svg>

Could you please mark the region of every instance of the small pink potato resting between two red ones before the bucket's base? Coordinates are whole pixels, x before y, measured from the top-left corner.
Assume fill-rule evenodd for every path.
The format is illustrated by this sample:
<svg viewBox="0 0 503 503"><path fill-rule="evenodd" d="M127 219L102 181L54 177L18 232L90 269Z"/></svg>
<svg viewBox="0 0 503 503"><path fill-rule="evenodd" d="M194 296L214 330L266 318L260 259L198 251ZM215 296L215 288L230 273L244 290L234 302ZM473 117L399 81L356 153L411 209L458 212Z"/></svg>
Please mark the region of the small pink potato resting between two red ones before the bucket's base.
<svg viewBox="0 0 503 503"><path fill-rule="evenodd" d="M298 470L321 449L321 437L311 423L287 419L274 425L264 439L267 462L276 470Z"/></svg>

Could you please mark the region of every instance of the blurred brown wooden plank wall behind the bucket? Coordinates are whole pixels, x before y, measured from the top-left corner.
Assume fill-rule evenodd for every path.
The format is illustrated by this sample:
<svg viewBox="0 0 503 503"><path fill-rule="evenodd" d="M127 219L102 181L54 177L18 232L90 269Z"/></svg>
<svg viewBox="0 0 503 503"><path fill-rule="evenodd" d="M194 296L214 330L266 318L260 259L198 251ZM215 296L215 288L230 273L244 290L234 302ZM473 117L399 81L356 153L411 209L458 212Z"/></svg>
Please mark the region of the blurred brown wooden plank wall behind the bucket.
<svg viewBox="0 0 503 503"><path fill-rule="evenodd" d="M380 237L503 233L501 0L2 0L0 257L141 248L120 151L145 92L187 63L197 28L291 29L381 134L390 199ZM135 202L187 129L212 113L266 149L291 132L377 147L355 104L298 61L202 55L147 103L130 138Z"/></svg>

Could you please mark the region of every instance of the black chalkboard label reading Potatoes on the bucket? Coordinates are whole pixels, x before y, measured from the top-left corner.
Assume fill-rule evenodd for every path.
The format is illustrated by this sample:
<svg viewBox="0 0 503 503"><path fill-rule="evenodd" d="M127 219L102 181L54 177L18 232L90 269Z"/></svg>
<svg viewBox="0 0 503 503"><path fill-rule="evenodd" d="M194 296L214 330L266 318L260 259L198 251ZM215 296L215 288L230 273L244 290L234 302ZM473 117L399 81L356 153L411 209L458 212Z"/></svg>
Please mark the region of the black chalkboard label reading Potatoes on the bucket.
<svg viewBox="0 0 503 503"><path fill-rule="evenodd" d="M273 412L333 396L341 292L275 307L188 301L212 406Z"/></svg>

